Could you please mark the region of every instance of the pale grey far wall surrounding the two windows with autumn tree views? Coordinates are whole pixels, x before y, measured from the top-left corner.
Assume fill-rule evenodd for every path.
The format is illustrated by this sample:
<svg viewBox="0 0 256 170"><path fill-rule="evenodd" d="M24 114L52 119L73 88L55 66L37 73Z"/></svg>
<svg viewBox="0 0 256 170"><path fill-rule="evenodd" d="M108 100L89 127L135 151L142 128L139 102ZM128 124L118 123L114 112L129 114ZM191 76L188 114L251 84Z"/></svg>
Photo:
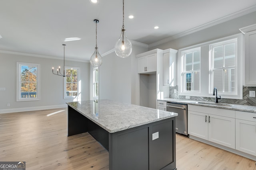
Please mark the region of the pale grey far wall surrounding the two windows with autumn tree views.
<svg viewBox="0 0 256 170"><path fill-rule="evenodd" d="M40 64L40 100L16 102L17 62ZM0 91L0 113L66 107L66 102L72 102L72 99L63 99L63 77L52 74L52 67L59 65L63 65L63 60L0 53L0 87L6 88ZM88 100L89 63L65 61L65 65L80 67L81 98Z"/></svg>

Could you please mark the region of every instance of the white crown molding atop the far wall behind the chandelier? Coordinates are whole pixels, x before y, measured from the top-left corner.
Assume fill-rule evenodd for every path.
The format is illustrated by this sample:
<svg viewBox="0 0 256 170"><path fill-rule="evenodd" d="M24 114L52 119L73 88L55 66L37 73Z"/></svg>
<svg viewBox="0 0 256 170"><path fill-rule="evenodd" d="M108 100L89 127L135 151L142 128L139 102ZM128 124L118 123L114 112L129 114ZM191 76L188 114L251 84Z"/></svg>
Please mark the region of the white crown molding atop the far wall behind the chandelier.
<svg viewBox="0 0 256 170"><path fill-rule="evenodd" d="M48 55L30 54L30 53L22 53L22 52L16 52L16 51L0 50L0 53L4 53L4 54L14 54L14 55L23 55L23 56L29 56L29 57L41 57L41 58L46 58L46 59L63 60L63 58L60 58L60 57L54 57L54 56L48 56ZM78 60L78 59L70 59L70 58L66 58L65 60L68 60L68 61L77 61L77 62L84 62L84 63L89 63L89 62L90 62L90 61L84 61L84 60Z"/></svg>

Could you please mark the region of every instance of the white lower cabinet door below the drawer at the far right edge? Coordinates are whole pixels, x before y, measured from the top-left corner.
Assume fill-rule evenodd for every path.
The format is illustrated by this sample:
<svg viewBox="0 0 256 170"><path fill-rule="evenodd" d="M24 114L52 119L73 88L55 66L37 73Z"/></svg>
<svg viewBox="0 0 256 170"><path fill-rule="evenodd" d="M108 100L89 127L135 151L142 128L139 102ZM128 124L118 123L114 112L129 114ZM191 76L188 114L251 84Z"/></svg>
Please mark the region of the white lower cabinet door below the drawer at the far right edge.
<svg viewBox="0 0 256 170"><path fill-rule="evenodd" d="M236 150L256 156L256 122L236 119Z"/></svg>

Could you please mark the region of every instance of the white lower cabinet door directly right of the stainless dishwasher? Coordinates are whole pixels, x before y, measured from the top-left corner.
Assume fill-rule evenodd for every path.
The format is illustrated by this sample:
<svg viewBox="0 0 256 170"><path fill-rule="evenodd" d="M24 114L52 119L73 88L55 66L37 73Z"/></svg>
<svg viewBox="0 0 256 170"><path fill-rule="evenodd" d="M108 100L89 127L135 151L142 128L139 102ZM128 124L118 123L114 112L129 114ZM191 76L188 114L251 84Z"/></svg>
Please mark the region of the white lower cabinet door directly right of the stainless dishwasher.
<svg viewBox="0 0 256 170"><path fill-rule="evenodd" d="M208 114L188 111L188 134L208 140Z"/></svg>

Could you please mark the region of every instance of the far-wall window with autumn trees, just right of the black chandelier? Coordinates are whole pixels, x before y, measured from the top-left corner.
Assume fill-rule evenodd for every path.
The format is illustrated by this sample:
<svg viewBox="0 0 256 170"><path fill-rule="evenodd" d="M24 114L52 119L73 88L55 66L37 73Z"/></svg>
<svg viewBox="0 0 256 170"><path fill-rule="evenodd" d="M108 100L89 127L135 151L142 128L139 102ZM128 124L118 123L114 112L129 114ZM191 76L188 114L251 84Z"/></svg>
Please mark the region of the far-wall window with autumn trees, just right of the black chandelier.
<svg viewBox="0 0 256 170"><path fill-rule="evenodd" d="M65 67L66 76L64 79L64 99L79 98L80 85L78 83L79 68Z"/></svg>

